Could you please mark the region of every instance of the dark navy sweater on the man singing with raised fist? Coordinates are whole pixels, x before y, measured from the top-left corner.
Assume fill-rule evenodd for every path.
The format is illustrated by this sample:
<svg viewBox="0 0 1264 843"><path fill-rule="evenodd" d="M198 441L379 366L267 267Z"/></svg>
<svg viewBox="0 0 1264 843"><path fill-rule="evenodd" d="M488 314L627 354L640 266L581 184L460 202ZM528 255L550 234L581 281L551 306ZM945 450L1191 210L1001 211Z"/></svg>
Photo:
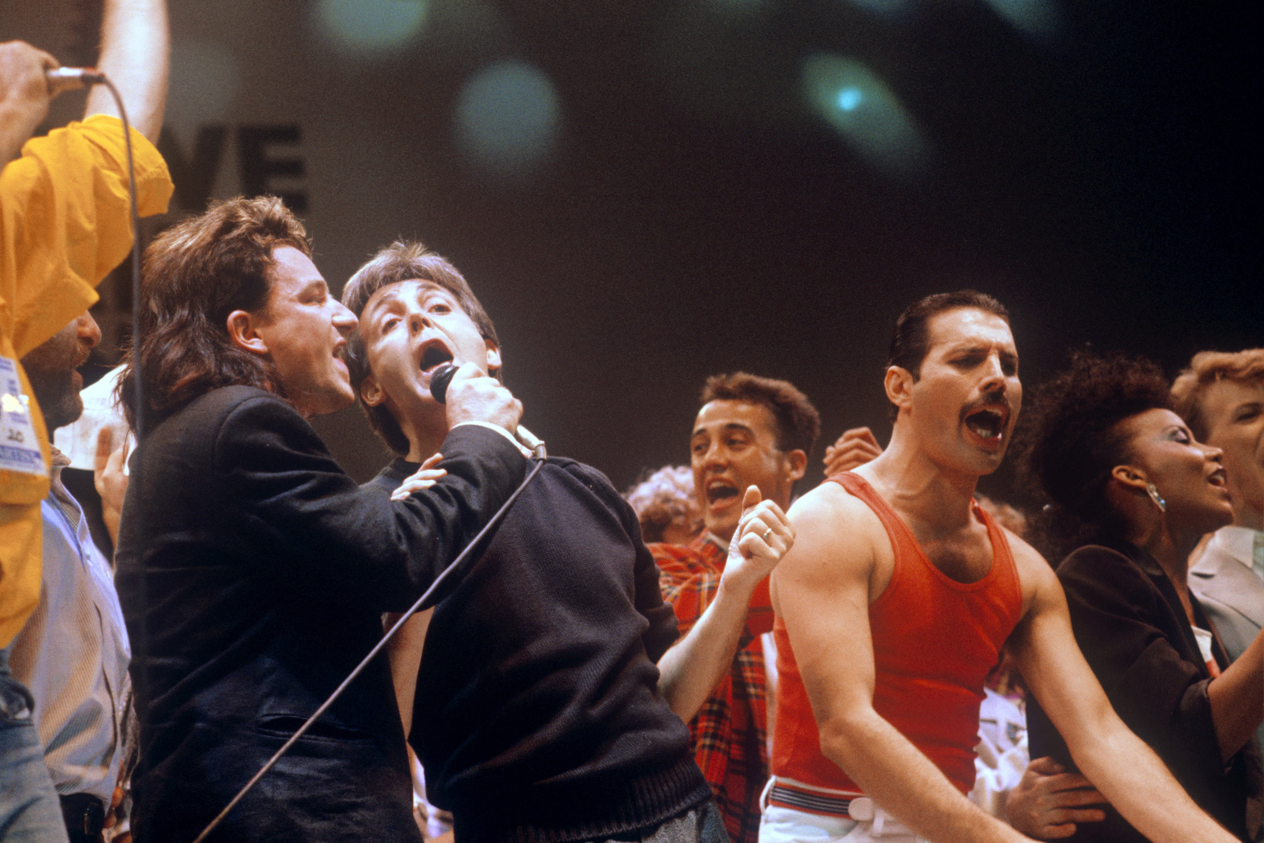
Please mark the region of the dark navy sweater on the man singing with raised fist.
<svg viewBox="0 0 1264 843"><path fill-rule="evenodd" d="M485 541L435 605L410 738L458 839L604 839L709 799L657 689L676 618L609 480L550 459Z"/></svg>

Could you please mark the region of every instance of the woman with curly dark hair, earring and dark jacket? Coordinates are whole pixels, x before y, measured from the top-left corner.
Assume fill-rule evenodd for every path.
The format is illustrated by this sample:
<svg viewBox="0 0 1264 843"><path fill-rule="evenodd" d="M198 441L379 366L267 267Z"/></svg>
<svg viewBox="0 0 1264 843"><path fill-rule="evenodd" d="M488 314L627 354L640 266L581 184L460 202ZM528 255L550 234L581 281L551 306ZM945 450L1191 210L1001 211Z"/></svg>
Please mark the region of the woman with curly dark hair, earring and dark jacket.
<svg viewBox="0 0 1264 843"><path fill-rule="evenodd" d="M1081 353L1029 407L1025 469L1077 549L1058 565L1076 641L1124 722L1243 840L1260 820L1264 633L1232 665L1186 585L1198 540L1232 519L1220 449L1194 441L1159 368ZM1039 705L1031 756L1072 767ZM1069 829L1067 829L1069 832ZM1076 840L1144 840L1117 811Z"/></svg>

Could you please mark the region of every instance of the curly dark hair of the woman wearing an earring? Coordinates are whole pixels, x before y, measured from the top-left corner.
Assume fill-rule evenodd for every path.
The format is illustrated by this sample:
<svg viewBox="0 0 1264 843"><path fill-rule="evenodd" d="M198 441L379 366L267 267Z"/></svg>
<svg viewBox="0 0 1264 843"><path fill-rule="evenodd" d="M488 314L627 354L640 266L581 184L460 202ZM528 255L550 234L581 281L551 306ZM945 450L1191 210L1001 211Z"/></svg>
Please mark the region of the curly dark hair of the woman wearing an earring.
<svg viewBox="0 0 1264 843"><path fill-rule="evenodd" d="M1024 408L1019 463L1049 502L1040 525L1047 550L1060 556L1122 528L1106 484L1131 458L1120 422L1146 409L1172 409L1167 378L1153 360L1127 354L1077 351L1035 391Z"/></svg>

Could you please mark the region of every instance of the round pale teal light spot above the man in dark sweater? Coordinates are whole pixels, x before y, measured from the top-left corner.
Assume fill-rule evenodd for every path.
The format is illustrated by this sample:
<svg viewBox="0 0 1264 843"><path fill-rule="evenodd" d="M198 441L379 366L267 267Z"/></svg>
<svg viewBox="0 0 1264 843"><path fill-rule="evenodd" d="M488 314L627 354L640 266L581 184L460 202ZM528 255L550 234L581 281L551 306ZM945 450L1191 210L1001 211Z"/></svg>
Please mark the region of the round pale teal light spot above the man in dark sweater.
<svg viewBox="0 0 1264 843"><path fill-rule="evenodd" d="M544 161L561 129L561 101L540 70L503 61L479 71L456 104L456 136L480 167L521 174Z"/></svg>

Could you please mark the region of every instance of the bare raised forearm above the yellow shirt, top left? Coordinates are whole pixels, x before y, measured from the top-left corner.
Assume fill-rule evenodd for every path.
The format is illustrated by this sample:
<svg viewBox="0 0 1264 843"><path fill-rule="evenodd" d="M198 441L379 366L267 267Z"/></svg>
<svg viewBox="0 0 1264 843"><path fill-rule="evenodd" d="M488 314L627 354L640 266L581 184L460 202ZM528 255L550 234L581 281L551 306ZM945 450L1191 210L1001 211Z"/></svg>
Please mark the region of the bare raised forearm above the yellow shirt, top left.
<svg viewBox="0 0 1264 843"><path fill-rule="evenodd" d="M105 0L97 70L119 88L128 120L152 143L162 131L169 52L167 0ZM83 115L94 114L119 116L105 86L88 92Z"/></svg>

